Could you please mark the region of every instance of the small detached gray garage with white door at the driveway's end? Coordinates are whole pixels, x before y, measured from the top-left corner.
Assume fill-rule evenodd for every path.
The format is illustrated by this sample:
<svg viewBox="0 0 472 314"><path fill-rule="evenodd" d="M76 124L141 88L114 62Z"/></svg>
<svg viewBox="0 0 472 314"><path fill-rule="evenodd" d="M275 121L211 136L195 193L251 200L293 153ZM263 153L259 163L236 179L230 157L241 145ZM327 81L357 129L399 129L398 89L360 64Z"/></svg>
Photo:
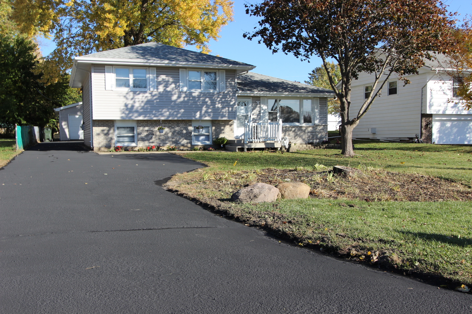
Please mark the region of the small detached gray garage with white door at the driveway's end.
<svg viewBox="0 0 472 314"><path fill-rule="evenodd" d="M82 130L82 102L54 109L59 115L59 137L61 141L84 139Z"/></svg>

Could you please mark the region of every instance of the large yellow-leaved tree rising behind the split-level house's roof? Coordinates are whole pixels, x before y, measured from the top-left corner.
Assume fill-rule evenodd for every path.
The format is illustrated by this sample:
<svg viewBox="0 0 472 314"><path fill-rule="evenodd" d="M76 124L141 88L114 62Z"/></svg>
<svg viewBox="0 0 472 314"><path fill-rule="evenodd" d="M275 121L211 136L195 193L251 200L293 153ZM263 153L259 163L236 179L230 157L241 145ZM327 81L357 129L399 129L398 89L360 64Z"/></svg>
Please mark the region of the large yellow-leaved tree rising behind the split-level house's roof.
<svg viewBox="0 0 472 314"><path fill-rule="evenodd" d="M11 0L23 32L54 36L50 61L68 69L72 56L155 41L209 52L232 21L230 0ZM52 75L52 73L51 73Z"/></svg>

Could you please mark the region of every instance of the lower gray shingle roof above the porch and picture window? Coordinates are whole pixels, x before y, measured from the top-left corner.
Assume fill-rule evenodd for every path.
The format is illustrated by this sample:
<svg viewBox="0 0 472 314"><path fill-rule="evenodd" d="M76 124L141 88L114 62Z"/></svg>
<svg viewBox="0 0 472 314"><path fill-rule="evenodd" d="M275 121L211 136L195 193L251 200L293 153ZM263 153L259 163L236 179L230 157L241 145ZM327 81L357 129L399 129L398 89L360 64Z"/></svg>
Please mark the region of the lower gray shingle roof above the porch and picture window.
<svg viewBox="0 0 472 314"><path fill-rule="evenodd" d="M243 92L268 92L268 93L333 93L330 89L312 86L294 81L287 81L247 72L237 76L237 88Z"/></svg>

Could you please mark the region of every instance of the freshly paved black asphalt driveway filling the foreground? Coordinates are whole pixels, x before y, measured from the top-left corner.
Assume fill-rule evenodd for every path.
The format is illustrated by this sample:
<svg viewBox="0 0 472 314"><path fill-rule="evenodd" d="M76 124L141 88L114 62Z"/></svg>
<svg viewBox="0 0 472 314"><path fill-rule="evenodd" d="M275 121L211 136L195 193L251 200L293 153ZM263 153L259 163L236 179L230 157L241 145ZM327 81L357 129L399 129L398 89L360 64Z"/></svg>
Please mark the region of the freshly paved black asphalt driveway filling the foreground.
<svg viewBox="0 0 472 314"><path fill-rule="evenodd" d="M331 258L157 185L202 164L42 143L0 170L0 313L472 313L470 294Z"/></svg>

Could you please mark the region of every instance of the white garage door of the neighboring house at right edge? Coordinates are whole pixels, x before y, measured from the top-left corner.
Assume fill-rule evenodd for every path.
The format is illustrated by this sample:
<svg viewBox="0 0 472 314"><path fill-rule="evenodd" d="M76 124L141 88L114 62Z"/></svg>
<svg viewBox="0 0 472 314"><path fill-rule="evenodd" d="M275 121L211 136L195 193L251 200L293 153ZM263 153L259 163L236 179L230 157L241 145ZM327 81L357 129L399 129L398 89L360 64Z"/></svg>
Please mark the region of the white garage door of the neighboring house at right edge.
<svg viewBox="0 0 472 314"><path fill-rule="evenodd" d="M472 121L433 119L432 141L436 144L472 144Z"/></svg>

